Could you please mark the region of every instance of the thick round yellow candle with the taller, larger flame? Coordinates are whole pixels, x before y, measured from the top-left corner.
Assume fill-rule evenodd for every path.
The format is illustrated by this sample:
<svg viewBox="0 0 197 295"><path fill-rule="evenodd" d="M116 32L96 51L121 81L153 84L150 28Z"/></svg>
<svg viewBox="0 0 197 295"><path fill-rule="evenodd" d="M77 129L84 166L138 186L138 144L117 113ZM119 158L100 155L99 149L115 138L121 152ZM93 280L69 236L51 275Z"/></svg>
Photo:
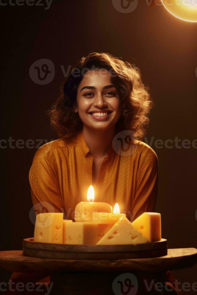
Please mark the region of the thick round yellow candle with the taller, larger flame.
<svg viewBox="0 0 197 295"><path fill-rule="evenodd" d="M105 202L94 202L94 188L90 185L87 191L87 202L80 202L75 207L74 220L92 222L92 214L96 212L111 213L112 207Z"/></svg>

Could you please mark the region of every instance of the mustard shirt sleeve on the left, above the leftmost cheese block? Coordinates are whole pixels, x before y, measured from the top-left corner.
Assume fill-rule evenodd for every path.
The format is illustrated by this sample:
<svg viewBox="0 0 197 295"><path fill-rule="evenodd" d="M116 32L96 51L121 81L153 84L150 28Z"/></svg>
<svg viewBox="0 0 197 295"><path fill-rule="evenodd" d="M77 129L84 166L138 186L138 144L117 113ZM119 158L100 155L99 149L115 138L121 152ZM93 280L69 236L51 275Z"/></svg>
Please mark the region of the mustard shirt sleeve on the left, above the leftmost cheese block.
<svg viewBox="0 0 197 295"><path fill-rule="evenodd" d="M60 193L55 156L44 146L36 152L29 171L29 182L34 212L63 212L64 201Z"/></svg>

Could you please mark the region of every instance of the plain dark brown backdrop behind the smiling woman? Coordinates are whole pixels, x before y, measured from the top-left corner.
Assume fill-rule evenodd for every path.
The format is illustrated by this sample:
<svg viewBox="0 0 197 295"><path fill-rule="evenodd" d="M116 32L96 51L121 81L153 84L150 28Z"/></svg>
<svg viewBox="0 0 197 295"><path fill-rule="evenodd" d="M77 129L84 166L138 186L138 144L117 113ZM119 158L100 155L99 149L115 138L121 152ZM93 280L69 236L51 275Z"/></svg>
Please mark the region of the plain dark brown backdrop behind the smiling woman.
<svg viewBox="0 0 197 295"><path fill-rule="evenodd" d="M61 65L67 70L93 51L136 64L155 102L147 139L154 137L152 148L159 159L157 212L162 216L162 237L169 248L196 247L197 149L157 148L154 142L197 138L197 23L176 19L162 6L151 8L141 0L128 14L118 12L111 0L54 0L48 10L35 5L0 8L2 138L57 138L45 111L64 79ZM43 58L54 63L55 77L38 85L30 79L29 68ZM23 238L33 236L28 172L35 152L27 147L1 149L1 250L21 250ZM197 265L174 274L182 284L192 284L196 270ZM6 282L11 273L1 269L0 275Z"/></svg>

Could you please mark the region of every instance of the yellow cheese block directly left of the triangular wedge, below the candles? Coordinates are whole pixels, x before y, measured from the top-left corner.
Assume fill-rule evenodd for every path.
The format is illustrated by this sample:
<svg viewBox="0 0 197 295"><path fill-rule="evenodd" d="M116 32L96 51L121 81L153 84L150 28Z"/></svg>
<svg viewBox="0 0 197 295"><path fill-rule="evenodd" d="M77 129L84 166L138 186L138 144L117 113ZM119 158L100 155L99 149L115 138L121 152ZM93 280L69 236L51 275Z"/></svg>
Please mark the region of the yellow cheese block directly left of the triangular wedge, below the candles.
<svg viewBox="0 0 197 295"><path fill-rule="evenodd" d="M109 224L70 222L66 224L64 244L95 245L111 228Z"/></svg>

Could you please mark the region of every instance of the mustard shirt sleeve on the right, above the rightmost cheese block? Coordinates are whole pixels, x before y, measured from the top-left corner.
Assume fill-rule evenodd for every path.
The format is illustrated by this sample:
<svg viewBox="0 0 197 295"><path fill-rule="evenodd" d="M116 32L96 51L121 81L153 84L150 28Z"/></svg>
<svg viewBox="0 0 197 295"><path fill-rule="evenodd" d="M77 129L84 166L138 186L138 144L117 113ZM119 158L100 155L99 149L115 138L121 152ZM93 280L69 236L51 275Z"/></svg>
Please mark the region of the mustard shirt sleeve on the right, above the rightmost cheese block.
<svg viewBox="0 0 197 295"><path fill-rule="evenodd" d="M148 148L139 162L136 174L136 191L131 207L131 221L144 212L155 212L158 195L158 157Z"/></svg>

